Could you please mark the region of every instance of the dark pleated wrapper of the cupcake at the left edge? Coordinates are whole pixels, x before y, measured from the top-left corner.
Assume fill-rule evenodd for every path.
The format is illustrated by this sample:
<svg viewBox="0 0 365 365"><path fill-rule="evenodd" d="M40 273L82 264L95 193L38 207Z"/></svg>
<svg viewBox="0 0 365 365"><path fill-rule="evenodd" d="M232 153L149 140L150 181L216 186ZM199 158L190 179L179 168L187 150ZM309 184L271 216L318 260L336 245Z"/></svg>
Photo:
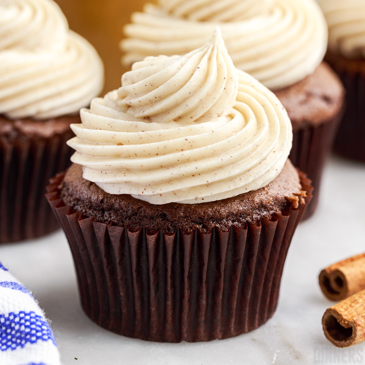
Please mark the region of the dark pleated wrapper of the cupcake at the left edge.
<svg viewBox="0 0 365 365"><path fill-rule="evenodd" d="M71 130L51 138L0 135L0 243L36 238L59 224L47 200L50 177L70 165Z"/></svg>

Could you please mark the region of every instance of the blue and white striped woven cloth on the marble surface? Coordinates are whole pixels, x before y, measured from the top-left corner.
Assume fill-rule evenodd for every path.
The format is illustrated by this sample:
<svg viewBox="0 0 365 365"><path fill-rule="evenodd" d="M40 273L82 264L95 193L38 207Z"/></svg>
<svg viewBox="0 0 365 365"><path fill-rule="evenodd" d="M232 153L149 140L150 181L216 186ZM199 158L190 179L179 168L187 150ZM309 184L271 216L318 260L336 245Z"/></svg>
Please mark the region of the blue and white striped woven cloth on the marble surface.
<svg viewBox="0 0 365 365"><path fill-rule="evenodd" d="M32 293L0 263L0 364L60 365L59 352Z"/></svg>

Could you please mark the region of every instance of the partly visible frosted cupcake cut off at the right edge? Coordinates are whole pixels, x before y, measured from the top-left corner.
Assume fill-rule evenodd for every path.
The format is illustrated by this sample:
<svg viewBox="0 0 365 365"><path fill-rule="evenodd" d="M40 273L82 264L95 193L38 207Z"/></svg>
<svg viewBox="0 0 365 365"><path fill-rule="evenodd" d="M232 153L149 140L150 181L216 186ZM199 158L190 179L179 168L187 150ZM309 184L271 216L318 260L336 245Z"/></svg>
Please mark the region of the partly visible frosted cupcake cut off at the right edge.
<svg viewBox="0 0 365 365"><path fill-rule="evenodd" d="M365 3L361 0L320 0L329 27L326 61L346 89L346 112L334 150L365 162Z"/></svg>

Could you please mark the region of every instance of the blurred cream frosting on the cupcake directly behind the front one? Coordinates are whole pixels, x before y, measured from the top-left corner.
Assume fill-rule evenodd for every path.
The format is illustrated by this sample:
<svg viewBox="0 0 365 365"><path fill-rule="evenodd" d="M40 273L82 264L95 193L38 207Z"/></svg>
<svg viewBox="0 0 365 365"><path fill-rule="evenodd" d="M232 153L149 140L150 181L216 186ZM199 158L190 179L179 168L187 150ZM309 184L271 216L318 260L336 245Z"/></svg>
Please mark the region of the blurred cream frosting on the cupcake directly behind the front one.
<svg viewBox="0 0 365 365"><path fill-rule="evenodd" d="M160 0L124 28L123 62L187 53L216 25L234 65L272 90L312 74L327 49L327 24L315 0Z"/></svg>

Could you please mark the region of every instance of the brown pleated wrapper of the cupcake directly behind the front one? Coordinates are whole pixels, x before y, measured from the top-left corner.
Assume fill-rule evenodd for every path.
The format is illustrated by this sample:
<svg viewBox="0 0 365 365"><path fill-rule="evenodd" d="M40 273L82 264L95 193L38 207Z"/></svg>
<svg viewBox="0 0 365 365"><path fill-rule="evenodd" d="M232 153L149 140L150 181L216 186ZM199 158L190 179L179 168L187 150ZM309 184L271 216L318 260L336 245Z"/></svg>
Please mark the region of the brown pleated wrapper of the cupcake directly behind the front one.
<svg viewBox="0 0 365 365"><path fill-rule="evenodd" d="M293 130L293 146L289 159L312 180L313 198L302 220L312 216L318 206L323 170L333 147L335 135L343 116L343 109L333 119L315 127Z"/></svg>

